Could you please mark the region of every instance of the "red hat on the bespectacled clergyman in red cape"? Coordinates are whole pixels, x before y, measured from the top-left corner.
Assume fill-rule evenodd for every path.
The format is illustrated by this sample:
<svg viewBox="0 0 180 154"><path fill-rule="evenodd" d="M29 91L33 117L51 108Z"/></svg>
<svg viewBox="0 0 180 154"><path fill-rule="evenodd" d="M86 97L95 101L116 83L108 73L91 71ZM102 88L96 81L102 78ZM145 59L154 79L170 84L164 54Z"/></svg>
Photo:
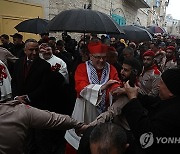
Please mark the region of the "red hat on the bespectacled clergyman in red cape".
<svg viewBox="0 0 180 154"><path fill-rule="evenodd" d="M101 42L89 42L88 50L90 54L106 53L108 50L108 46L102 44Z"/></svg>

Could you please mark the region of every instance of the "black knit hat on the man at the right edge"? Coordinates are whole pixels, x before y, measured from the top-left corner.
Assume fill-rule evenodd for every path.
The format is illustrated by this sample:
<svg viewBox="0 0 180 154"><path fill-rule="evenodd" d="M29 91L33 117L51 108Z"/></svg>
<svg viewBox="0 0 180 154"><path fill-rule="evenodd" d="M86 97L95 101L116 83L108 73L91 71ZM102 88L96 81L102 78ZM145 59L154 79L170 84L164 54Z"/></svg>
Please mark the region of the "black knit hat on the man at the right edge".
<svg viewBox="0 0 180 154"><path fill-rule="evenodd" d="M176 96L180 96L180 69L168 69L162 73L161 78L166 87Z"/></svg>

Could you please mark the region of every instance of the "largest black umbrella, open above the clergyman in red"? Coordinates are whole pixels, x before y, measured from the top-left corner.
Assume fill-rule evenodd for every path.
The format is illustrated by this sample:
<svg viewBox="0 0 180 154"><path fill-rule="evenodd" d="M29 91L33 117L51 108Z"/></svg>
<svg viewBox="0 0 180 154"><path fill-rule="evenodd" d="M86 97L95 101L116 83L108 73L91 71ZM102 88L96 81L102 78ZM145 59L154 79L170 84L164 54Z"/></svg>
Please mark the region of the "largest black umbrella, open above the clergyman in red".
<svg viewBox="0 0 180 154"><path fill-rule="evenodd" d="M71 9L60 12L48 24L49 31L119 34L120 26L107 14L89 9Z"/></svg>

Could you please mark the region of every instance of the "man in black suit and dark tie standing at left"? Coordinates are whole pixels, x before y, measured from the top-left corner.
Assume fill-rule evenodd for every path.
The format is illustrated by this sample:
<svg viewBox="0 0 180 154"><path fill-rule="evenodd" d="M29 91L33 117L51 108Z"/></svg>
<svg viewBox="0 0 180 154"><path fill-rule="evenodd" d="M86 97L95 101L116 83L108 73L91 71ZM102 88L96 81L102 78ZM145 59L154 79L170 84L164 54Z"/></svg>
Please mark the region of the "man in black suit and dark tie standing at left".
<svg viewBox="0 0 180 154"><path fill-rule="evenodd" d="M36 40L26 40L24 52L26 56L15 63L11 83L13 96L20 102L44 109L51 66L39 58L39 46Z"/></svg>

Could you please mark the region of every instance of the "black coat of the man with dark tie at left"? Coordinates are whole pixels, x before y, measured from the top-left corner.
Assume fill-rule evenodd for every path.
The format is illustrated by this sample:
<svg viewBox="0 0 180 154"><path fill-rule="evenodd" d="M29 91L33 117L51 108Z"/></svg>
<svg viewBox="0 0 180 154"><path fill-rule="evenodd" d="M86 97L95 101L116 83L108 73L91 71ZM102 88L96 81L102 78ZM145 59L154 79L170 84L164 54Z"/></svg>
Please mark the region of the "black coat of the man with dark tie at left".
<svg viewBox="0 0 180 154"><path fill-rule="evenodd" d="M12 77L13 96L28 95L30 104L43 109L48 95L48 75L51 66L45 60L37 58L33 61L27 75L25 75L26 57L16 61Z"/></svg>

